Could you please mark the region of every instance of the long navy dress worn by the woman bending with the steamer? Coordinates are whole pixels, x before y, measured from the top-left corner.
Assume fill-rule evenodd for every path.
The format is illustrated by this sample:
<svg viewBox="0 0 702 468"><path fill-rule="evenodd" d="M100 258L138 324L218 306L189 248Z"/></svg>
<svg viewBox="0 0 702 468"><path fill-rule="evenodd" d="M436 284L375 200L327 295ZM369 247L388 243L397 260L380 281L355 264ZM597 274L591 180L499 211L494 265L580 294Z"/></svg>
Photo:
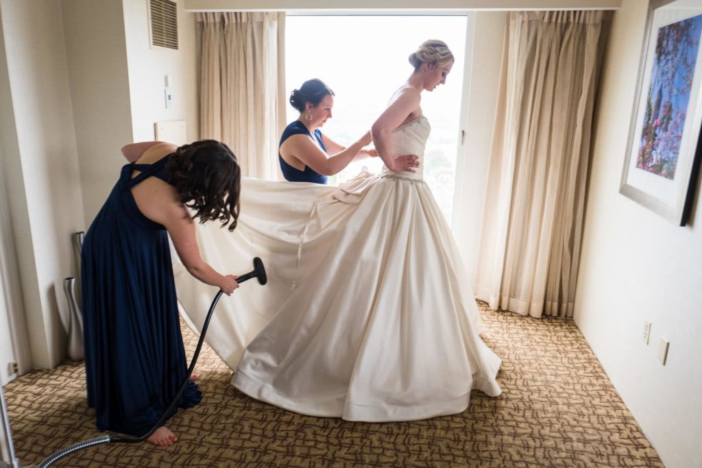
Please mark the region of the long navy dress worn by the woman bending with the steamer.
<svg viewBox="0 0 702 468"><path fill-rule="evenodd" d="M187 373L166 229L140 212L131 193L152 176L167 182L168 157L122 168L83 243L86 385L100 430L145 434ZM133 171L142 172L131 178ZM200 399L189 382L178 407Z"/></svg>

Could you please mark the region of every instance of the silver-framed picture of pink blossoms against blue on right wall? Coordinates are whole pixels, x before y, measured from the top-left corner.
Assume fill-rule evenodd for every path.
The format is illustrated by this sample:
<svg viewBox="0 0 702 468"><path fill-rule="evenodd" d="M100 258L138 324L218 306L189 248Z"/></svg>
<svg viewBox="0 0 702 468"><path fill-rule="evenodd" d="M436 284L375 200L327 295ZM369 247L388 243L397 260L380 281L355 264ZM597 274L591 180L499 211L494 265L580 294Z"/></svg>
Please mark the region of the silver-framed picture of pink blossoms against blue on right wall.
<svg viewBox="0 0 702 468"><path fill-rule="evenodd" d="M650 0L619 192L684 226L702 158L702 4Z"/></svg>

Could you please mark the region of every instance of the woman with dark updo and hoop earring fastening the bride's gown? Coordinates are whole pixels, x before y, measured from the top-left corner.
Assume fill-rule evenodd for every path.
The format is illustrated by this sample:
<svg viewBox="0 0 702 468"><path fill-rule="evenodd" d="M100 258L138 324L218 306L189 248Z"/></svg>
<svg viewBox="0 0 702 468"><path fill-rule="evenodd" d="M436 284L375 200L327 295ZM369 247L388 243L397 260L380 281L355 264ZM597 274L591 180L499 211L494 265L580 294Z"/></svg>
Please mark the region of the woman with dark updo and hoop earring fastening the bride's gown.
<svg viewBox="0 0 702 468"><path fill-rule="evenodd" d="M363 149L371 143L370 132L344 147L319 130L331 119L334 107L334 92L322 80L305 81L291 93L290 104L300 116L285 128L278 149L280 168L289 182L326 184L326 176L339 173L351 161L378 155L375 149ZM396 158L395 169L409 171L418 166L416 160L413 155Z"/></svg>

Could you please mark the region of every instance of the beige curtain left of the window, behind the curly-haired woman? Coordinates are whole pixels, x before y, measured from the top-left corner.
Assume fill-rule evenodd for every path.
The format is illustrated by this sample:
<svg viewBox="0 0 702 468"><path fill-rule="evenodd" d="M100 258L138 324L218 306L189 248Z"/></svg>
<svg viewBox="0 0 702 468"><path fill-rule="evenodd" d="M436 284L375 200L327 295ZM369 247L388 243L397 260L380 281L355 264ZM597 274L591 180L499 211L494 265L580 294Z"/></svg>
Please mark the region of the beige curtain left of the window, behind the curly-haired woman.
<svg viewBox="0 0 702 468"><path fill-rule="evenodd" d="M200 138L232 148L241 173L280 179L285 13L198 13Z"/></svg>

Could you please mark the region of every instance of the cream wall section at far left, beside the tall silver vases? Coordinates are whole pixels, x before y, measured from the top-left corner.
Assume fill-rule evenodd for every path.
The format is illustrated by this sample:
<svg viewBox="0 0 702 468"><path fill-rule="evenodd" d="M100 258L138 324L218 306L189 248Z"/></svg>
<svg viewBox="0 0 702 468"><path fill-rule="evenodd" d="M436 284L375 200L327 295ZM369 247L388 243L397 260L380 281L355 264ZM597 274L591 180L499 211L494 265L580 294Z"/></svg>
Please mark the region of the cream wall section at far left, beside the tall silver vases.
<svg viewBox="0 0 702 468"><path fill-rule="evenodd" d="M55 288L74 274L83 226L58 0L0 0L9 96L0 139L34 367L65 356ZM8 102L9 100L9 102Z"/></svg>

